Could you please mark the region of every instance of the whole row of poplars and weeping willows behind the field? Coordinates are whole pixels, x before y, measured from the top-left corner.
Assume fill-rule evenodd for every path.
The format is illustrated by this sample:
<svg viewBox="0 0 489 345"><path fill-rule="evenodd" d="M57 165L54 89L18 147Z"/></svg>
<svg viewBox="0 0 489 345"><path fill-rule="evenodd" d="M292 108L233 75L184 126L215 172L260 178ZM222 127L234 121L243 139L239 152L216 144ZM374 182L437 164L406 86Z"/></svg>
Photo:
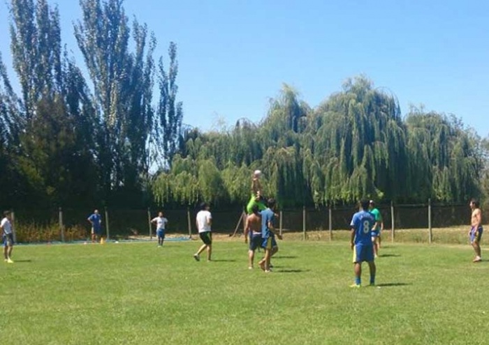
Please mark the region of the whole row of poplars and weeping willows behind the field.
<svg viewBox="0 0 489 345"><path fill-rule="evenodd" d="M463 202L489 190L487 139L456 116L422 107L403 116L395 95L364 76L315 108L284 85L259 123L182 125L177 45L166 64L122 0L80 6L72 29L83 66L61 43L56 6L10 1L20 91L0 54L3 207L242 206L254 169L282 207Z"/></svg>

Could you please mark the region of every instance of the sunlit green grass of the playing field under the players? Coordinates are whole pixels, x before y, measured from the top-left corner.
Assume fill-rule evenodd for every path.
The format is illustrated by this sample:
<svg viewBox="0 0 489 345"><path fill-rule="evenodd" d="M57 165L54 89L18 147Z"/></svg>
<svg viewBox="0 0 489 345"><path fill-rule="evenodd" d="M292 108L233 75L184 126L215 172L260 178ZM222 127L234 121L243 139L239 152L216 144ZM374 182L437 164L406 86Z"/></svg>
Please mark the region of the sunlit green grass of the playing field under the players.
<svg viewBox="0 0 489 345"><path fill-rule="evenodd" d="M242 240L29 245L0 265L5 344L486 344L489 261L469 245L385 243L350 289L344 241L284 240L275 272ZM368 279L364 265L364 282Z"/></svg>

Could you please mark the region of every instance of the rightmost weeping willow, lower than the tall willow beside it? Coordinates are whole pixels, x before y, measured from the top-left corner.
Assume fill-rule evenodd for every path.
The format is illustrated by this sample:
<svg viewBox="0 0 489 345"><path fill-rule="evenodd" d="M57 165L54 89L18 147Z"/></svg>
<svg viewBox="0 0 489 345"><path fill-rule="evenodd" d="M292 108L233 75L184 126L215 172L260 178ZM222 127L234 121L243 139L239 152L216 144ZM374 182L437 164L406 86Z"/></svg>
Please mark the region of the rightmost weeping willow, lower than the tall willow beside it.
<svg viewBox="0 0 489 345"><path fill-rule="evenodd" d="M411 109L406 123L414 196L466 201L480 193L482 158L476 151L479 139L472 137L455 118L422 109Z"/></svg>

